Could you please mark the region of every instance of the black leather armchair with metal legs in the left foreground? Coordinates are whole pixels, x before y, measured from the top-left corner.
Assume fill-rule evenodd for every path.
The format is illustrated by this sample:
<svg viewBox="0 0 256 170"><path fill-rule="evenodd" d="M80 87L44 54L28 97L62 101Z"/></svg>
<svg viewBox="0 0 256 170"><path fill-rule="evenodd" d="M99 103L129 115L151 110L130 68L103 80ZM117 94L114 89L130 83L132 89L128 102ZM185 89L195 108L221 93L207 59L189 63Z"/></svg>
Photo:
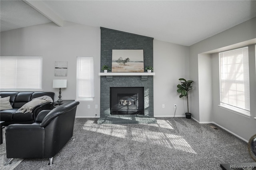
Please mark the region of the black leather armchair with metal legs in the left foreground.
<svg viewBox="0 0 256 170"><path fill-rule="evenodd" d="M33 124L6 127L6 154L9 158L50 158L72 138L78 101L71 101L52 110L44 110ZM18 142L17 142L18 141Z"/></svg>

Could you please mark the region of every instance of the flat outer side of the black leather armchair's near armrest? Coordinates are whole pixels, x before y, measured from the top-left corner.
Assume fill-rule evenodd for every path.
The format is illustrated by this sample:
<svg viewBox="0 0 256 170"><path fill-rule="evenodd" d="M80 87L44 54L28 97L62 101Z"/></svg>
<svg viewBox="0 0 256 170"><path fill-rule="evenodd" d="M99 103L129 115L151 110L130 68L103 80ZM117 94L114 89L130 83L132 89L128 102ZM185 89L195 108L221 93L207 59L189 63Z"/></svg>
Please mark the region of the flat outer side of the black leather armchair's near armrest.
<svg viewBox="0 0 256 170"><path fill-rule="evenodd" d="M7 158L43 157L45 132L40 124L9 125L5 136Z"/></svg>

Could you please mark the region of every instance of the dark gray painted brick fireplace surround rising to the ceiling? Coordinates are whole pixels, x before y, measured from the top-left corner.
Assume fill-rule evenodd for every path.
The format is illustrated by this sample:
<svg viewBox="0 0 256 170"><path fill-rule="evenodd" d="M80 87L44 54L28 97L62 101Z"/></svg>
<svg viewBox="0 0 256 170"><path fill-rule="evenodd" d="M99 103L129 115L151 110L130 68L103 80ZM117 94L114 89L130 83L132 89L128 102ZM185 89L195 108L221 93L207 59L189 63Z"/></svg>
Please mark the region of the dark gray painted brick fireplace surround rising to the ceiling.
<svg viewBox="0 0 256 170"><path fill-rule="evenodd" d="M100 67L109 65L112 67L112 49L143 49L144 67L153 67L153 38L111 30L101 29L101 56ZM103 72L101 70L101 72ZM154 117L153 103L153 76L101 76L100 77L100 119L98 123L106 122L106 118L118 117L110 115L110 87L144 87L144 117ZM129 116L128 116L129 117ZM135 120L132 116L133 120ZM120 117L119 117L120 118ZM136 121L126 123L140 123ZM150 119L150 118L141 118ZM120 119L118 119L120 120ZM142 121L145 123L145 121ZM154 120L153 120L154 122ZM119 121L119 123L124 123ZM113 123L114 124L114 123Z"/></svg>

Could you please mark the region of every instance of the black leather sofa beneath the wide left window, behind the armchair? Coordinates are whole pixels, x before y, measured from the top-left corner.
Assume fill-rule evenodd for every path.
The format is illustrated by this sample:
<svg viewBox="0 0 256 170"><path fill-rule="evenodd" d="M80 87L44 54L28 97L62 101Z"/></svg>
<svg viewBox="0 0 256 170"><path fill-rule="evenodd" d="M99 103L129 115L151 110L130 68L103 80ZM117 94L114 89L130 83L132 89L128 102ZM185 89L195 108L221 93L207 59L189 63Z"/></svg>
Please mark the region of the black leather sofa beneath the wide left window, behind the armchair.
<svg viewBox="0 0 256 170"><path fill-rule="evenodd" d="M7 109L0 111L0 120L4 121L3 126L8 126L14 123L31 124L36 121L38 113L42 110L51 109L50 102L45 102L37 105L32 109L31 113L16 112L24 104L28 103L32 99L41 96L50 96L54 100L53 92L15 92L15 91L1 91L1 97L10 96L10 104L13 109Z"/></svg>

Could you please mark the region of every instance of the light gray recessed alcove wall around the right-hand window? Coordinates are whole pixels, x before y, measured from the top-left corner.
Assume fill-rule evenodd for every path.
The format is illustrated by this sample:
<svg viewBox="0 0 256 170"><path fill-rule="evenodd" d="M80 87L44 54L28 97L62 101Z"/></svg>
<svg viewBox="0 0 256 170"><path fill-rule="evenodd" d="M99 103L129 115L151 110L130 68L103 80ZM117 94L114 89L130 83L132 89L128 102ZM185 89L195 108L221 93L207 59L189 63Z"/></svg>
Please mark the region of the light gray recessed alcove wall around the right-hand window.
<svg viewBox="0 0 256 170"><path fill-rule="evenodd" d="M230 130L245 140L255 134L256 121L253 117L256 116L256 71L255 71L255 45L250 45L249 50L249 67L250 67L250 113L252 117L247 117L233 113L231 111L218 107L220 105L220 84L219 84L219 55L213 53L211 55L212 63L212 121L222 127ZM252 71L251 71L252 70Z"/></svg>

